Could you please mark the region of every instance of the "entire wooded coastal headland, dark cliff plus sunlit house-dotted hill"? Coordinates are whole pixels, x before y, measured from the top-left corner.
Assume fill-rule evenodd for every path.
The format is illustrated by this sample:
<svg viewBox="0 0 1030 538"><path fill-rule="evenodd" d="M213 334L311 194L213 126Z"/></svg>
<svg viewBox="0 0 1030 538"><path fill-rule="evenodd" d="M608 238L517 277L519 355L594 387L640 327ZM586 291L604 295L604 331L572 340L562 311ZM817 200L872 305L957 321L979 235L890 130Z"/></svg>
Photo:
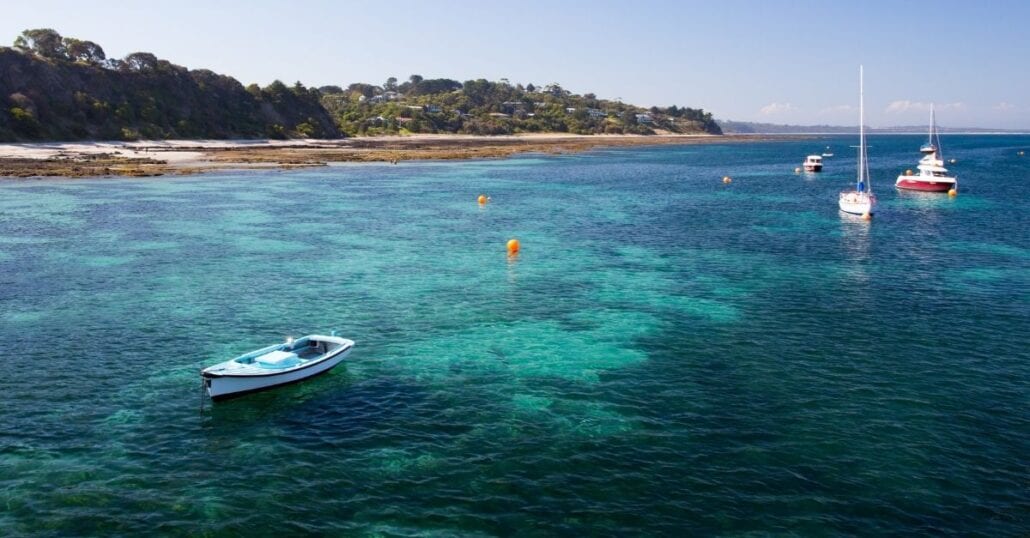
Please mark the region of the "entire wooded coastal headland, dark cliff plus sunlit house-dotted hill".
<svg viewBox="0 0 1030 538"><path fill-rule="evenodd" d="M0 141L538 132L721 134L700 109L643 108L557 83L411 75L400 85L244 87L150 53L109 59L99 44L49 29L0 47Z"/></svg>

